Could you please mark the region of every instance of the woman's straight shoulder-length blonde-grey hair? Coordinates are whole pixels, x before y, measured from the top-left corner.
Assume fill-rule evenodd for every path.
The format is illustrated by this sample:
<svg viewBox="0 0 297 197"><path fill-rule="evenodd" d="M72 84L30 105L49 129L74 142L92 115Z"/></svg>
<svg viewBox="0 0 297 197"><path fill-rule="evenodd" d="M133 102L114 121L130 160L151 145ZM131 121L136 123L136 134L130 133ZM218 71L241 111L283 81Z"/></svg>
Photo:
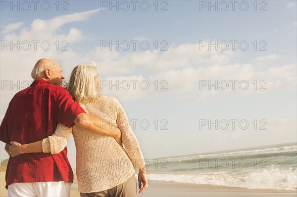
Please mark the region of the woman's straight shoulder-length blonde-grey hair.
<svg viewBox="0 0 297 197"><path fill-rule="evenodd" d="M79 103L95 101L100 98L96 80L99 80L99 75L95 62L79 64L72 70L66 88Z"/></svg>

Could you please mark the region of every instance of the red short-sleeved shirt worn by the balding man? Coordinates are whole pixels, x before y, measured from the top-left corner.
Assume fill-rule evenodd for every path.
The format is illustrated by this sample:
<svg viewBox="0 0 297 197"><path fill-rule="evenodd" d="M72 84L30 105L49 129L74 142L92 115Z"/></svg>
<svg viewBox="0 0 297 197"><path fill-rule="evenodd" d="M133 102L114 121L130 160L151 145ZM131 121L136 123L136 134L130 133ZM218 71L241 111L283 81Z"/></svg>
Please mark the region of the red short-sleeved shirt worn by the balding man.
<svg viewBox="0 0 297 197"><path fill-rule="evenodd" d="M84 112L65 88L43 79L35 80L10 101L1 122L0 140L8 144L10 141L36 142L52 135L57 123L73 126L73 120ZM73 182L67 148L55 155L30 153L10 157L5 180L6 188L19 182Z"/></svg>

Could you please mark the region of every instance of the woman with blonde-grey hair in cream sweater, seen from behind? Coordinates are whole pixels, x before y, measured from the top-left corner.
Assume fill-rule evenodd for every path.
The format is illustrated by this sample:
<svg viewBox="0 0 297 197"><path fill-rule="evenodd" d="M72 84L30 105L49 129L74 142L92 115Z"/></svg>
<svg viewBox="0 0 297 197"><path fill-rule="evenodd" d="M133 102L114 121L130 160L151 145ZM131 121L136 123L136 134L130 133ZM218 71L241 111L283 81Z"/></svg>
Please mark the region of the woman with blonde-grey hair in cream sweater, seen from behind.
<svg viewBox="0 0 297 197"><path fill-rule="evenodd" d="M139 168L140 193L145 191L148 179L139 143L119 101L114 97L99 94L96 64L90 62L76 66L71 73L67 90L88 114L120 129L126 150L119 145L121 142L118 143L111 136L93 133L76 125L68 128L58 124L55 134L43 139L43 152L56 154L62 151L72 132L81 197L136 197L133 164ZM17 155L18 148L20 146L11 146L12 156ZM142 188L141 183L144 185Z"/></svg>

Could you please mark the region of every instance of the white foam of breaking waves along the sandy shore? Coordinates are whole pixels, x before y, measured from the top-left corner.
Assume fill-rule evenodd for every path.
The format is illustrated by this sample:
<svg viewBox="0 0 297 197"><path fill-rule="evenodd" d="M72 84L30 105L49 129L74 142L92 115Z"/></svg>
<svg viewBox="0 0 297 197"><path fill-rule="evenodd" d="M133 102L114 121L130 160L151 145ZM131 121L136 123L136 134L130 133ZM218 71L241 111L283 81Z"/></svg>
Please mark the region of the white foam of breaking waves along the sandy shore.
<svg viewBox="0 0 297 197"><path fill-rule="evenodd" d="M248 189L297 190L297 170L284 170L271 165L254 171L214 171L191 174L148 174L149 180L207 184Z"/></svg>

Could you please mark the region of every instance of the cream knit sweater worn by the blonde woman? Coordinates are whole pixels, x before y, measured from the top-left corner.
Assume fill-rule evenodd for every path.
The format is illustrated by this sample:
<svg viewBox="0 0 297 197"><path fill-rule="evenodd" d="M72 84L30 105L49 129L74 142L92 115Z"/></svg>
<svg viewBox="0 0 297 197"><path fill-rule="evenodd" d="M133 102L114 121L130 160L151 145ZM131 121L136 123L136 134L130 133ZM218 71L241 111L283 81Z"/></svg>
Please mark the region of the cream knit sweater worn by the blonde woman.
<svg viewBox="0 0 297 197"><path fill-rule="evenodd" d="M43 151L51 154L62 151L72 131L79 192L91 193L113 188L134 175L133 164L137 168L145 166L139 143L116 98L101 96L95 102L80 106L86 113L116 125L121 130L126 151L111 136L93 133L76 125L68 128L58 124L55 133L43 140Z"/></svg>

